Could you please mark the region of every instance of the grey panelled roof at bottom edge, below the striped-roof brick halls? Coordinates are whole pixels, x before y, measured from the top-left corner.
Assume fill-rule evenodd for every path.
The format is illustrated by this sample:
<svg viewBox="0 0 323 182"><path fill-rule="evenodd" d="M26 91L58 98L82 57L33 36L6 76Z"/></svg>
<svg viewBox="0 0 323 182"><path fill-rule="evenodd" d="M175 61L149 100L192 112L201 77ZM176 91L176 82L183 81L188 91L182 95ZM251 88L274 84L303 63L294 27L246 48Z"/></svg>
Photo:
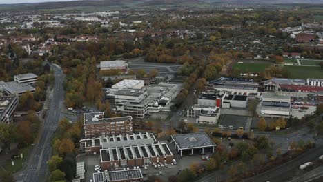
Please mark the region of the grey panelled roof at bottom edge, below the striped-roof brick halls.
<svg viewBox="0 0 323 182"><path fill-rule="evenodd" d="M108 172L108 181L121 181L128 179L142 179L140 169L136 170L119 170L119 171L109 171Z"/></svg>

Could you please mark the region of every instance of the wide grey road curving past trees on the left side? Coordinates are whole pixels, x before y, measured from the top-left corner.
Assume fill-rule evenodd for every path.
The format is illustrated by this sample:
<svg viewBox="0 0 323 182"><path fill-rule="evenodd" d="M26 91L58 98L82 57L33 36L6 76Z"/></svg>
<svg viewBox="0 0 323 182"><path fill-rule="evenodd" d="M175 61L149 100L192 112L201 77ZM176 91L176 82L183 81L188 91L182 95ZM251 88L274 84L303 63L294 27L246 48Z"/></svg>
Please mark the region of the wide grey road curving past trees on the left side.
<svg viewBox="0 0 323 182"><path fill-rule="evenodd" d="M58 65L51 64L50 67L54 70L55 83L52 95L49 96L50 105L46 117L43 120L41 137L39 142L35 143L32 152L30 152L29 158L23 166L23 170L14 174L14 178L17 181L44 181L47 176L49 176L47 174L47 161L52 150L51 140L53 133L62 117L59 108L61 108L61 105L63 104L63 81L65 77Z"/></svg>

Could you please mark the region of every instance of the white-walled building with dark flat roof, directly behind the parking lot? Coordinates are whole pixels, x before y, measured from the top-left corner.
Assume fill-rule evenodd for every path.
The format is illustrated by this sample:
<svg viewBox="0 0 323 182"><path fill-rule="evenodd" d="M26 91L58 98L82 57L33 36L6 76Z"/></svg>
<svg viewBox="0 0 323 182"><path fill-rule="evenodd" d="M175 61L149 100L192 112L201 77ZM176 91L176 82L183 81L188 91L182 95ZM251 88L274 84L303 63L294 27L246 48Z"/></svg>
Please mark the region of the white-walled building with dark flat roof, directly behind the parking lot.
<svg viewBox="0 0 323 182"><path fill-rule="evenodd" d="M224 94L222 97L222 108L246 108L248 96Z"/></svg>

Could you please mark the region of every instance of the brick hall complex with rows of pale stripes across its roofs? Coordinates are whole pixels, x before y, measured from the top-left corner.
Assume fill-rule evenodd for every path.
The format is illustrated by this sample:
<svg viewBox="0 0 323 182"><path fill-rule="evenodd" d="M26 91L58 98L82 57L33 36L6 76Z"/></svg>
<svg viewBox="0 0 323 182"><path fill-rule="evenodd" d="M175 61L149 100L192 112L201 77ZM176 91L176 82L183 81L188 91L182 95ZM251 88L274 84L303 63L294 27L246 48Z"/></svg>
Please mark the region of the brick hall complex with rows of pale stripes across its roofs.
<svg viewBox="0 0 323 182"><path fill-rule="evenodd" d="M153 133L101 136L82 139L86 154L100 154L101 169L117 170L157 163L172 163L167 143L157 142Z"/></svg>

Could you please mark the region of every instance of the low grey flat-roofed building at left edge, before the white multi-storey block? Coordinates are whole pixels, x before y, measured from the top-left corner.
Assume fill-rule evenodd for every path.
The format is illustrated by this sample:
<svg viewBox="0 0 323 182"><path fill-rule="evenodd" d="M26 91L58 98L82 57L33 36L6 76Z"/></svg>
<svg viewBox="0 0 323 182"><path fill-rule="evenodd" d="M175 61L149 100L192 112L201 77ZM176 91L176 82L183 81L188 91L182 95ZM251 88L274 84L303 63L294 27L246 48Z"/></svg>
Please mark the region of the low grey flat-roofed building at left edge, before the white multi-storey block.
<svg viewBox="0 0 323 182"><path fill-rule="evenodd" d="M7 92L8 94L15 94L21 96L28 91L35 92L35 88L26 83L17 83L15 81L3 82L0 81L0 90Z"/></svg>

